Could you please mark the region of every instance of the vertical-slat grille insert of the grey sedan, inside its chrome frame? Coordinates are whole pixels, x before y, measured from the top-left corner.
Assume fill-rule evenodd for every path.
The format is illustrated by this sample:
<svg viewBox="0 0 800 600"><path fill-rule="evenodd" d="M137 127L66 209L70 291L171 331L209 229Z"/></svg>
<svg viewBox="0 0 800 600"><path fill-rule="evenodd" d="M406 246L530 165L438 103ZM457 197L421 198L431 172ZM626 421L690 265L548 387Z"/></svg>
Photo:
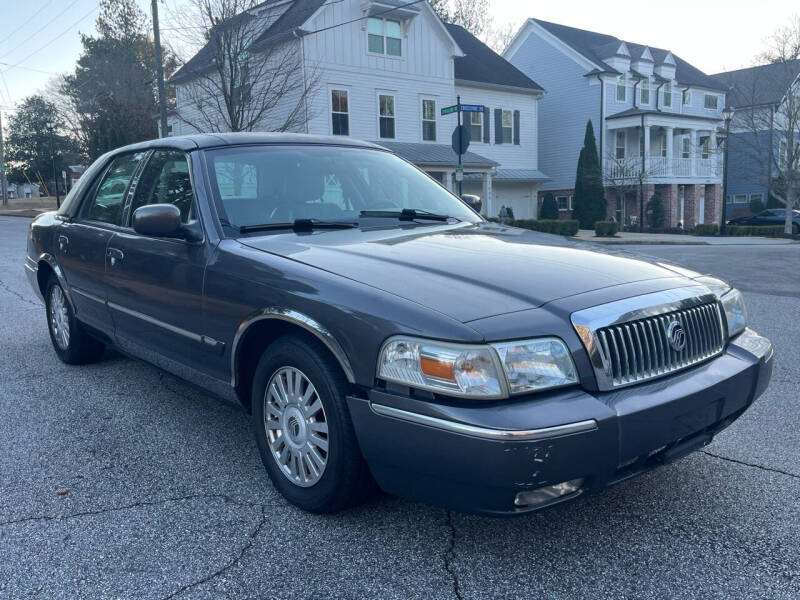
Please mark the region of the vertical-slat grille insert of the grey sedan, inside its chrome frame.
<svg viewBox="0 0 800 600"><path fill-rule="evenodd" d="M670 343L670 326L677 322L685 345ZM596 330L595 340L605 375L614 387L672 373L719 354L725 332L718 302L712 301ZM672 325L673 329L676 326Z"/></svg>

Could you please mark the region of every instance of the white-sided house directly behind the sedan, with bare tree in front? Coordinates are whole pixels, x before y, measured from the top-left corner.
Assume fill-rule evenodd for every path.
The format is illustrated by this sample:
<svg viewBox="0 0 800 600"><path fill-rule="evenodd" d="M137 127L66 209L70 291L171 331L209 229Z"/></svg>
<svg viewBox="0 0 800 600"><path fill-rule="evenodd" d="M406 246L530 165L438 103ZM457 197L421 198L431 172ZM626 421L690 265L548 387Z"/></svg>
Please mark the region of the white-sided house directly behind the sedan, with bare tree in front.
<svg viewBox="0 0 800 600"><path fill-rule="evenodd" d="M451 135L457 115L441 110L460 97L483 107L464 113L471 144L463 156L463 192L480 195L488 215L505 205L517 218L536 216L538 188L547 179L538 170L544 90L465 29L443 23L427 2L271 0L249 15L261 20L247 60L258 61L280 44L301 57L298 81L314 82L303 88L306 118L290 130L376 142L456 190ZM212 55L202 49L170 80L175 135L198 130L187 117L196 102L189 92L212 68ZM253 129L274 130L285 113L278 107L275 118Z"/></svg>

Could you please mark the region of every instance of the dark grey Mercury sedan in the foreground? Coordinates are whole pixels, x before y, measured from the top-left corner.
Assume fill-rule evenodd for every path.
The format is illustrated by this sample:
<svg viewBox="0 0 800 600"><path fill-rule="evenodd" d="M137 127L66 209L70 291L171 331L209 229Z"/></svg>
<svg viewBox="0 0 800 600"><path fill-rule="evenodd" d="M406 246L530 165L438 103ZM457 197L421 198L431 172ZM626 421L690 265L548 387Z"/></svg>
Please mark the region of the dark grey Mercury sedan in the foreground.
<svg viewBox="0 0 800 600"><path fill-rule="evenodd" d="M216 134L99 158L25 268L62 361L113 346L241 404L295 505L517 515L702 447L771 377L736 289L594 248L369 143Z"/></svg>

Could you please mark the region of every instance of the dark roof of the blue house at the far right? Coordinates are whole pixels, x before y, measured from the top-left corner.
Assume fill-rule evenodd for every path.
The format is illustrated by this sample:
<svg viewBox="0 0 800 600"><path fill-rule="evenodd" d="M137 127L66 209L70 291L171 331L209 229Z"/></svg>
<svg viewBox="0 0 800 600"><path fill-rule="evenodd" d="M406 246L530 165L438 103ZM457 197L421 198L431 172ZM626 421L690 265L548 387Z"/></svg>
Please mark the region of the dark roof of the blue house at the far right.
<svg viewBox="0 0 800 600"><path fill-rule="evenodd" d="M729 89L728 105L733 107L779 104L800 75L800 59L737 69L712 75Z"/></svg>

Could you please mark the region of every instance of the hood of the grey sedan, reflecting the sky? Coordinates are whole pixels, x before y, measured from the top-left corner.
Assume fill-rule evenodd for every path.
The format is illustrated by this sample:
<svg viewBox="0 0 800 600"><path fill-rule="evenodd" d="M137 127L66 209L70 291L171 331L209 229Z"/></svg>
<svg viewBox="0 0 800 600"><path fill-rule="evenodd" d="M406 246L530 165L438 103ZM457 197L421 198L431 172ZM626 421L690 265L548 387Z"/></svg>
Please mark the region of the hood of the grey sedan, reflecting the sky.
<svg viewBox="0 0 800 600"><path fill-rule="evenodd" d="M680 277L621 252L493 223L272 233L238 241L461 322L600 288Z"/></svg>

